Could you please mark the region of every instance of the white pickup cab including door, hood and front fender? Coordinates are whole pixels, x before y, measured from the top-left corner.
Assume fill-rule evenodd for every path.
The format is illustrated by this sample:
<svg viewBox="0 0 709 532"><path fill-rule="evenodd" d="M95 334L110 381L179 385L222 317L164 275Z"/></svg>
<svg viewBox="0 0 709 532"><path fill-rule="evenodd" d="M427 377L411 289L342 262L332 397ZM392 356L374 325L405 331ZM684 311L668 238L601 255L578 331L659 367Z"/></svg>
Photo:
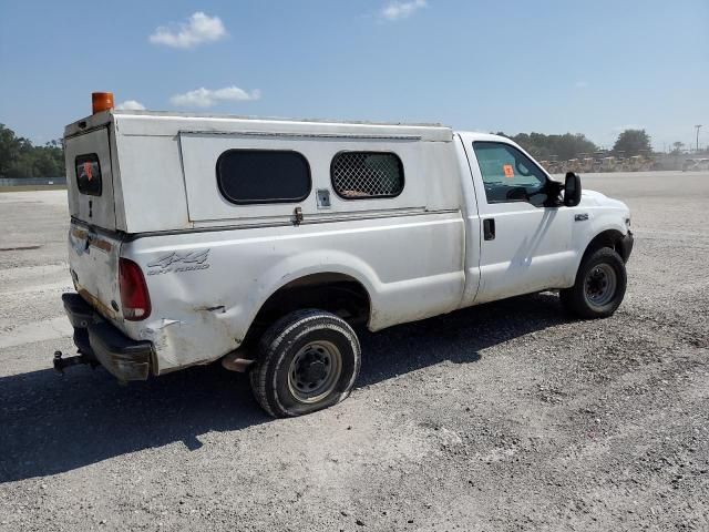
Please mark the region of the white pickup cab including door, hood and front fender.
<svg viewBox="0 0 709 532"><path fill-rule="evenodd" d="M480 277L471 304L572 286L590 239L604 231L627 235L629 211L621 202L585 191L578 203L565 203L565 185L514 142L481 133L456 136L470 162L471 180L463 181L467 234L481 235L466 246ZM627 258L629 252L618 250Z"/></svg>

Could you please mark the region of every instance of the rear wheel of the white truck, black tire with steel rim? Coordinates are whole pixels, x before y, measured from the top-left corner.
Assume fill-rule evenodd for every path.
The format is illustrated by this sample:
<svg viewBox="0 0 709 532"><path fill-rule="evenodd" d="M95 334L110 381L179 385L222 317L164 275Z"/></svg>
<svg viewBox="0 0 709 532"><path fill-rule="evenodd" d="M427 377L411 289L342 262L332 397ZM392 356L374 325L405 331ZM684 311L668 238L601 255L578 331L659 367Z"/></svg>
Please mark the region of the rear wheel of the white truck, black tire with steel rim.
<svg viewBox="0 0 709 532"><path fill-rule="evenodd" d="M261 337L251 390L270 416L302 416L347 399L360 365L359 340L347 321L322 310L297 310Z"/></svg>

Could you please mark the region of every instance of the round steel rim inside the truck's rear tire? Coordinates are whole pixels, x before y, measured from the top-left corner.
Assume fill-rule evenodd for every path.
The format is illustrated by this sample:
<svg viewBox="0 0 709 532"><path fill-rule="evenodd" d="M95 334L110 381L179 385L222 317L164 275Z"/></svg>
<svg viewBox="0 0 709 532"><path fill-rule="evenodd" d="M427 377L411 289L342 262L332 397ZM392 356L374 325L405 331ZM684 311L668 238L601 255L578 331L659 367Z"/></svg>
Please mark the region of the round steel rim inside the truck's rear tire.
<svg viewBox="0 0 709 532"><path fill-rule="evenodd" d="M288 369L288 388L300 402L314 403L327 397L342 374L342 354L330 341L302 346Z"/></svg>

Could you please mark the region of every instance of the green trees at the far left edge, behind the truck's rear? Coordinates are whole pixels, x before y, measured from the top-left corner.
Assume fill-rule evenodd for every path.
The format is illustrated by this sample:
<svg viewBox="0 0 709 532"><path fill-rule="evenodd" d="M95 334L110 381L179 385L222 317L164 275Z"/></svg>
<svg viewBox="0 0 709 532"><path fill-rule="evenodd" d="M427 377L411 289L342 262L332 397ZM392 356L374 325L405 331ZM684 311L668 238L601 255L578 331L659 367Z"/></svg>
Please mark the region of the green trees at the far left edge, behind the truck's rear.
<svg viewBox="0 0 709 532"><path fill-rule="evenodd" d="M64 175L60 141L34 146L28 139L0 124L0 177L59 177Z"/></svg>

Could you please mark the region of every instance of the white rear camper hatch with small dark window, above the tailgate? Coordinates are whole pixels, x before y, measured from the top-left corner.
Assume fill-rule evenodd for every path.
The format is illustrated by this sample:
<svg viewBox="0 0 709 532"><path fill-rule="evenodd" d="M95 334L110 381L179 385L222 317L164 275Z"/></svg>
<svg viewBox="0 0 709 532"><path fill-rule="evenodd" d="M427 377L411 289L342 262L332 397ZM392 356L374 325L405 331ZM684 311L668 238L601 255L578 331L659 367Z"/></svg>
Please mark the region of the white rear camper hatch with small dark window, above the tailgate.
<svg viewBox="0 0 709 532"><path fill-rule="evenodd" d="M109 125L65 137L64 162L72 217L115 229Z"/></svg>

